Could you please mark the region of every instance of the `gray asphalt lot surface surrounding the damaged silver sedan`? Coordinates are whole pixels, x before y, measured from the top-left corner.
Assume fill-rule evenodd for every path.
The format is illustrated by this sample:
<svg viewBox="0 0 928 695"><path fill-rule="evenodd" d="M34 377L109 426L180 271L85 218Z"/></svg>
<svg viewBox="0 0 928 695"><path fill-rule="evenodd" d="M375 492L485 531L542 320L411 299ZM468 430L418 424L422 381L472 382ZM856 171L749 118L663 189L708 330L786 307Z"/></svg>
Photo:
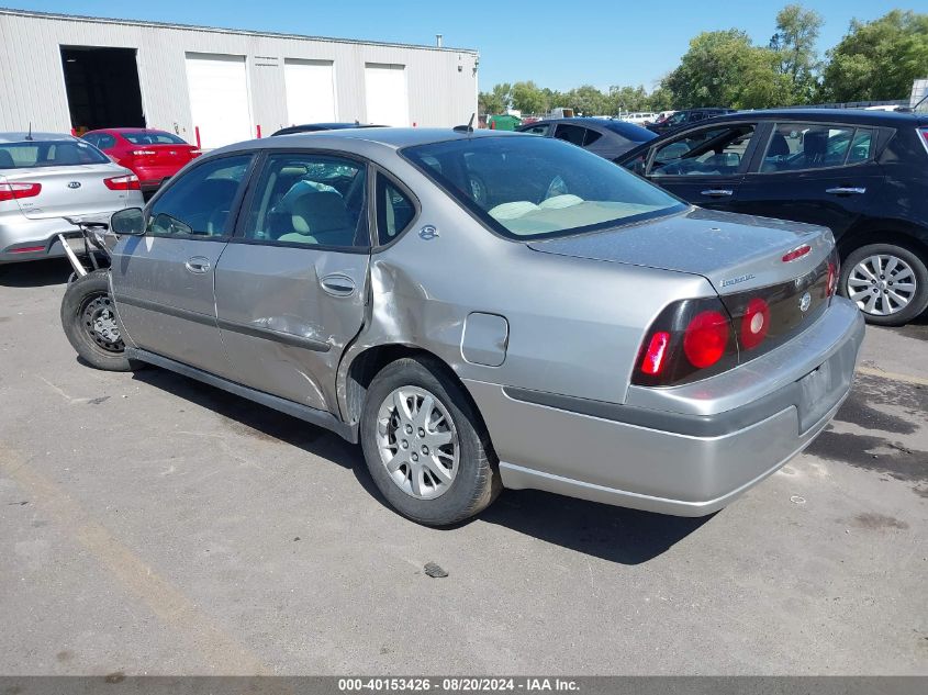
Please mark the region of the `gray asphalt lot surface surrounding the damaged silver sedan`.
<svg viewBox="0 0 928 695"><path fill-rule="evenodd" d="M80 365L67 272L0 269L0 674L928 674L928 317L712 517L507 491L435 530L334 435Z"/></svg>

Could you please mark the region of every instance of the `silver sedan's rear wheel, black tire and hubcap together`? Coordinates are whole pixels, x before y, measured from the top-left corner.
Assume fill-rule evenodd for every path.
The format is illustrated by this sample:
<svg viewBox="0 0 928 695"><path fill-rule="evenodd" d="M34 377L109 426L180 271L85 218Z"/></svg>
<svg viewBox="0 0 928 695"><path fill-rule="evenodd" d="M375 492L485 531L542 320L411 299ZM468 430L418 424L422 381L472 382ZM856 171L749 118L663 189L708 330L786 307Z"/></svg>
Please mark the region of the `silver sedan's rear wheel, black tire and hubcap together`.
<svg viewBox="0 0 928 695"><path fill-rule="evenodd" d="M502 487L474 406L433 359L400 359L374 377L360 439L378 490L421 524L461 522L484 509Z"/></svg>

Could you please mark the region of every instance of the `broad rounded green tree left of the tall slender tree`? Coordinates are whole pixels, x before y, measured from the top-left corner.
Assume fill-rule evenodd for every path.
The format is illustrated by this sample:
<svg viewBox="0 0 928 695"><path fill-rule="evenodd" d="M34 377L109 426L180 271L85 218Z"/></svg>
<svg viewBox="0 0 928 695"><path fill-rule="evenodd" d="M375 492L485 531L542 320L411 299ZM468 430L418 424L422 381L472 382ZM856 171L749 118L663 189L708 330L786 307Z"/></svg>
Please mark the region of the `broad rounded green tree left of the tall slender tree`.
<svg viewBox="0 0 928 695"><path fill-rule="evenodd" d="M790 79L778 64L775 51L754 46L740 30L703 32L661 87L674 94L678 109L763 109L790 99Z"/></svg>

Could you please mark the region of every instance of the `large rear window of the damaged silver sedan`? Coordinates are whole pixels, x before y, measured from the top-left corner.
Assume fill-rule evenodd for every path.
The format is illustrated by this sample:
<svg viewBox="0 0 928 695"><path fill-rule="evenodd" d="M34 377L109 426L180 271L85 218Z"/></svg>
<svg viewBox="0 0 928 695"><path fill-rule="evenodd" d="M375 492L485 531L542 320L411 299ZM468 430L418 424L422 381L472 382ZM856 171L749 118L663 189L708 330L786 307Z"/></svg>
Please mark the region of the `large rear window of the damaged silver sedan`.
<svg viewBox="0 0 928 695"><path fill-rule="evenodd" d="M686 209L622 167L552 138L460 138L402 154L510 238L567 236Z"/></svg>

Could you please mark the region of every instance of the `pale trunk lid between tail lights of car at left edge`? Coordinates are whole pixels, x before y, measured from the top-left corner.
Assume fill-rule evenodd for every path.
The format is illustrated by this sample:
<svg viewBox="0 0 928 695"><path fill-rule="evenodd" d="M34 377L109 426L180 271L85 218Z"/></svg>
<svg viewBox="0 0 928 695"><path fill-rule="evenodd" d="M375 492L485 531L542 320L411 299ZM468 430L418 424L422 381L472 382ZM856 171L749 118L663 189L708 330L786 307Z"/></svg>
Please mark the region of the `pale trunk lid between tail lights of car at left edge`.
<svg viewBox="0 0 928 695"><path fill-rule="evenodd" d="M125 208L128 194L135 191L113 191L103 181L131 173L114 164L88 164L8 169L3 176L8 183L30 182L42 186L38 195L16 199L16 203L26 217L43 220Z"/></svg>

